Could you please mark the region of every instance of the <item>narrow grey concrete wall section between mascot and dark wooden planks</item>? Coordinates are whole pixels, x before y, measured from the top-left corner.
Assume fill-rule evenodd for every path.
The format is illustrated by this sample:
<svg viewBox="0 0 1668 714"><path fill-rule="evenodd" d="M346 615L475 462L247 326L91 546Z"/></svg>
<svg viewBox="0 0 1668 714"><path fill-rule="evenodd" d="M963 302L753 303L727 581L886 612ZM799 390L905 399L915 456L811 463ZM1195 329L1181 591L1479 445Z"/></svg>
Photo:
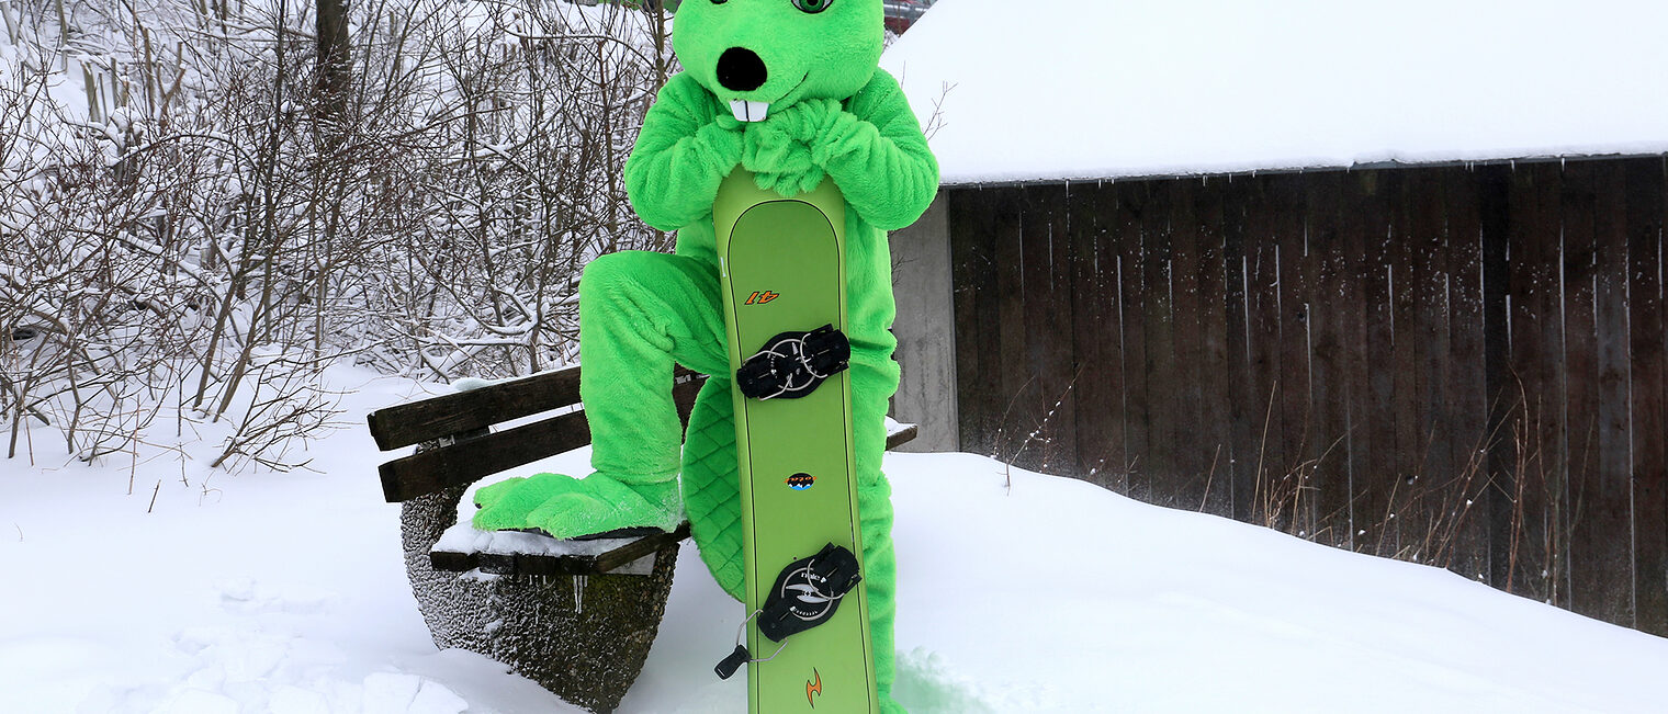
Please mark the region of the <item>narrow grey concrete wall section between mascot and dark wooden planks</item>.
<svg viewBox="0 0 1668 714"><path fill-rule="evenodd" d="M956 417L956 310L949 264L946 195L914 225L892 232L892 290L897 295L897 362L902 384L892 419L919 425L901 450L959 450Z"/></svg>

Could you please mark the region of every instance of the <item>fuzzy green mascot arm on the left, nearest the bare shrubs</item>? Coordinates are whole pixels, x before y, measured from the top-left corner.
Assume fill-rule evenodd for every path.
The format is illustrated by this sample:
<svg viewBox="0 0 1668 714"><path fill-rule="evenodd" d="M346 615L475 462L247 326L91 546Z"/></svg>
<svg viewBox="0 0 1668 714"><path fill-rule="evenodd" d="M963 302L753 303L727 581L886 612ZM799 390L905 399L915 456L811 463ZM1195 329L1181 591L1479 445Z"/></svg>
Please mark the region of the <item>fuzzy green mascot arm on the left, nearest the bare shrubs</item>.
<svg viewBox="0 0 1668 714"><path fill-rule="evenodd" d="M626 194L646 224L677 230L712 212L719 184L741 162L742 132L727 117L687 73L661 88L626 160Z"/></svg>

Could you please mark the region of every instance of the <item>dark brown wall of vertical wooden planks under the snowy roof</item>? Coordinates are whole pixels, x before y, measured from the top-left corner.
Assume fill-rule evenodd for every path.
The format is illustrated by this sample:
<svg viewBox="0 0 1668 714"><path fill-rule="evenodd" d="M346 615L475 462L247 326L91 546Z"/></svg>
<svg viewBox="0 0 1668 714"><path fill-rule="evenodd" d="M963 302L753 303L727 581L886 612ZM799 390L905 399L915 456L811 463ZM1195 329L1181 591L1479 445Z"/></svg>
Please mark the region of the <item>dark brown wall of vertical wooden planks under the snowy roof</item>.
<svg viewBox="0 0 1668 714"><path fill-rule="evenodd" d="M952 189L966 450L1668 634L1661 157Z"/></svg>

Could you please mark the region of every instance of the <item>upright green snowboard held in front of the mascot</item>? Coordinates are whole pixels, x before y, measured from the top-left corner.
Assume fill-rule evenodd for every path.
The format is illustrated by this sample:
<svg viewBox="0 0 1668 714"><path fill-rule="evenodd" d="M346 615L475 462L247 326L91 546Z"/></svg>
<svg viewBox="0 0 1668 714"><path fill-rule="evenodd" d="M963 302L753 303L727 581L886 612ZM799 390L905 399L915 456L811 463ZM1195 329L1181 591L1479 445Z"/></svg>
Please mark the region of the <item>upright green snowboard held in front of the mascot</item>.
<svg viewBox="0 0 1668 714"><path fill-rule="evenodd" d="M779 335L824 325L844 332L846 202L832 180L782 199L737 168L719 189L714 227L732 374ZM756 614L746 626L754 657L747 666L749 711L877 712L862 584L831 602L789 569L831 544L856 556L851 572L862 562L849 372L809 389L796 384L791 389L797 394L776 392L776 399L747 397L742 382L737 379L732 395L746 604ZM794 601L792 614L802 621L827 619L771 641L757 612L772 592L777 601Z"/></svg>

